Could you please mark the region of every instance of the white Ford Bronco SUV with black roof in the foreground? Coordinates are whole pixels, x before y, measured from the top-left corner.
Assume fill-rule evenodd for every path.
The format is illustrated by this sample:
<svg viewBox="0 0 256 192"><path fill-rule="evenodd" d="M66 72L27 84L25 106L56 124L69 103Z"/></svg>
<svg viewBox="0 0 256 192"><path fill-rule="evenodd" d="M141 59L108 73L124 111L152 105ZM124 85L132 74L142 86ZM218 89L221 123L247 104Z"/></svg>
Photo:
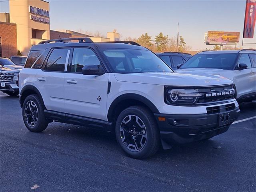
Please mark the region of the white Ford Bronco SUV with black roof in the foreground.
<svg viewBox="0 0 256 192"><path fill-rule="evenodd" d="M175 73L134 42L71 40L32 46L20 72L22 116L32 132L52 121L114 131L128 156L146 158L160 144L226 132L238 117L227 78Z"/></svg>

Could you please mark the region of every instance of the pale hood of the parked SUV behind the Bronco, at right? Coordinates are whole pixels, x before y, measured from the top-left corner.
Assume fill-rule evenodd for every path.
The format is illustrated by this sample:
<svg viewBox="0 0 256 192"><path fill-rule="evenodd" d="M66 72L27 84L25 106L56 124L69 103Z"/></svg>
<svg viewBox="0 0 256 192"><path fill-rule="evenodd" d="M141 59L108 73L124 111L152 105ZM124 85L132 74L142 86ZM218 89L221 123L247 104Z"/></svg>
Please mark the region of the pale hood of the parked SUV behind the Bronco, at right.
<svg viewBox="0 0 256 192"><path fill-rule="evenodd" d="M175 70L177 73L186 73L186 74L213 74L213 75L222 75L223 72L227 70L224 69L213 69L213 68L185 68Z"/></svg>

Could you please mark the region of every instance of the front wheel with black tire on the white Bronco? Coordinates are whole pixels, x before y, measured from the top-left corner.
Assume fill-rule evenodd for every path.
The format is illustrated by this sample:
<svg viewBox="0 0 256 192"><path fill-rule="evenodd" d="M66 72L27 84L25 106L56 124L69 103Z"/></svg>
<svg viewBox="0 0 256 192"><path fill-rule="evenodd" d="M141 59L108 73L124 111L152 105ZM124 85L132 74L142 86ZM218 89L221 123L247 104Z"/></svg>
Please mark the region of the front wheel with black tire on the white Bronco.
<svg viewBox="0 0 256 192"><path fill-rule="evenodd" d="M126 155L132 158L144 159L154 155L160 146L160 132L152 112L142 106L123 110L116 120L116 140Z"/></svg>

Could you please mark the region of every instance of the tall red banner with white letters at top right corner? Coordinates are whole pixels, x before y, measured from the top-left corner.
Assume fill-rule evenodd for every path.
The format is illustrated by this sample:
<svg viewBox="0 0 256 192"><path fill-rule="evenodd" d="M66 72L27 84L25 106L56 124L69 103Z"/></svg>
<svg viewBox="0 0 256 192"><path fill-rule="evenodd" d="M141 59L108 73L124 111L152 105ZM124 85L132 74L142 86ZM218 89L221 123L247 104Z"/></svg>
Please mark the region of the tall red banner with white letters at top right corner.
<svg viewBox="0 0 256 192"><path fill-rule="evenodd" d="M256 22L256 0L247 0L244 16L244 38L253 38Z"/></svg>

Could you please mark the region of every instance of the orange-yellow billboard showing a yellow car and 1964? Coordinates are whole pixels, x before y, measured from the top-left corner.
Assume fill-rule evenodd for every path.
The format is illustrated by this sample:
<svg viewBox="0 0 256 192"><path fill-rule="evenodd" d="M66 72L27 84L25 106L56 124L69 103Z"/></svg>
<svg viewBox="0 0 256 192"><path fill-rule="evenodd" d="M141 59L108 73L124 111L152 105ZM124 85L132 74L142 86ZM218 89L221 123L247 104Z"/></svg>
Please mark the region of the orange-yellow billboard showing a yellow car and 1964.
<svg viewBox="0 0 256 192"><path fill-rule="evenodd" d="M208 31L207 44L235 44L239 42L240 32Z"/></svg>

